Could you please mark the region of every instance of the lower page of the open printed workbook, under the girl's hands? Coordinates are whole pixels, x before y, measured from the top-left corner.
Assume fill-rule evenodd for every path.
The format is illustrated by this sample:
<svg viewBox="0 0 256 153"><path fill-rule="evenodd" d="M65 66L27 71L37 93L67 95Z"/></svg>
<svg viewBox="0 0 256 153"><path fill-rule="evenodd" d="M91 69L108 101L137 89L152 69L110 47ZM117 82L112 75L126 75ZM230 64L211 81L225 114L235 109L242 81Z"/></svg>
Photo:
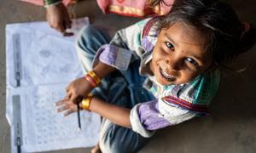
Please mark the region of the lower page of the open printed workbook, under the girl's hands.
<svg viewBox="0 0 256 153"><path fill-rule="evenodd" d="M56 112L55 102L63 98L66 86L51 84L19 88L9 96L10 101L15 103L13 96L20 95L23 152L90 147L97 143L99 116L89 111L80 111L79 130L77 113L64 116Z"/></svg>

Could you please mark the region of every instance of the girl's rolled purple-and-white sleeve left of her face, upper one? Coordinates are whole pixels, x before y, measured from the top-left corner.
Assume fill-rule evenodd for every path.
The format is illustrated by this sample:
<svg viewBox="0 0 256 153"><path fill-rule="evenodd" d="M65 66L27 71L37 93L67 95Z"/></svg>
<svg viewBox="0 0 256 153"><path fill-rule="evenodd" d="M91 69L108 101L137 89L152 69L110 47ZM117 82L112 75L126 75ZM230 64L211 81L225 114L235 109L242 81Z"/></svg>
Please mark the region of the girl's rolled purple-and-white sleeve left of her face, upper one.
<svg viewBox="0 0 256 153"><path fill-rule="evenodd" d="M109 44L97 50L93 65L101 61L119 71L125 71L133 59L138 59L143 54L142 32L148 20L142 20L133 26L117 31Z"/></svg>

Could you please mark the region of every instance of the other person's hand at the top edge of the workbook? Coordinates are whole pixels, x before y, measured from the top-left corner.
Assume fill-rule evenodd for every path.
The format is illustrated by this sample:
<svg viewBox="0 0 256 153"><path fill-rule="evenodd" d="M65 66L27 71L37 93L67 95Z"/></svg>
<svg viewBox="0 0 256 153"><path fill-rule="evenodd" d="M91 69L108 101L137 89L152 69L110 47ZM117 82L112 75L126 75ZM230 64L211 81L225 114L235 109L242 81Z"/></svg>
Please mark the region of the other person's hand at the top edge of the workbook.
<svg viewBox="0 0 256 153"><path fill-rule="evenodd" d="M50 6L46 9L46 19L49 26L63 33L64 36L72 36L73 33L67 32L67 28L71 28L72 21L69 18L67 8L63 3Z"/></svg>

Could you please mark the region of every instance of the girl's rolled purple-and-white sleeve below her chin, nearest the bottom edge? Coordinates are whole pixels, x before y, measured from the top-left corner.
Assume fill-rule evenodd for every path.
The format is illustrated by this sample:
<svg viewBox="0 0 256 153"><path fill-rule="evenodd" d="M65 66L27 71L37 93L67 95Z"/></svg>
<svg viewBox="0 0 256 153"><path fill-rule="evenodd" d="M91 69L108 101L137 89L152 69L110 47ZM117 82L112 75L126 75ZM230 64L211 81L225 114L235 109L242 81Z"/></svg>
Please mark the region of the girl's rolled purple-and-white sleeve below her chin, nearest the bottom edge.
<svg viewBox="0 0 256 153"><path fill-rule="evenodd" d="M131 128L143 137L151 137L154 130L184 122L196 114L179 105L170 105L162 99L155 99L137 104L132 108Z"/></svg>

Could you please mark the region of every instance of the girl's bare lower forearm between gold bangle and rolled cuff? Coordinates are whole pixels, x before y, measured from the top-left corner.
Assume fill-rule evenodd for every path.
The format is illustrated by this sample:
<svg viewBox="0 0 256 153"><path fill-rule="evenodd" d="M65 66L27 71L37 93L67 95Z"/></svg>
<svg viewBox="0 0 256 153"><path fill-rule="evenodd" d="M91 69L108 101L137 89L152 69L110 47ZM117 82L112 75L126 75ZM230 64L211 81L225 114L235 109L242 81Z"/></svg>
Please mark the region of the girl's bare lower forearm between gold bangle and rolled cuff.
<svg viewBox="0 0 256 153"><path fill-rule="evenodd" d="M131 127L130 109L109 104L96 97L91 99L89 109L119 126Z"/></svg>

